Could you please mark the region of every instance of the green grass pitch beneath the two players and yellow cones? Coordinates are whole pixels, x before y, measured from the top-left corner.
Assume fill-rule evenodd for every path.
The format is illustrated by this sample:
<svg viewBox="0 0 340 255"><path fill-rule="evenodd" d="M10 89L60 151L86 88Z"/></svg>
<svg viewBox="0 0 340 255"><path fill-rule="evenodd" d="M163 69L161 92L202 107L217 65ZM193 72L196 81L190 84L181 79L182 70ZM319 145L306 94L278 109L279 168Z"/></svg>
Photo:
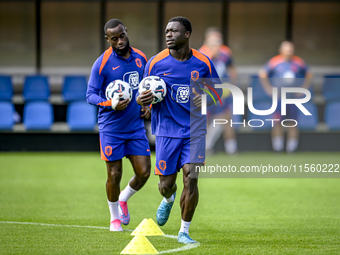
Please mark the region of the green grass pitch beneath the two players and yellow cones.
<svg viewBox="0 0 340 255"><path fill-rule="evenodd" d="M218 154L207 161L335 164L340 153ZM121 188L132 176L128 160L123 166ZM109 232L105 182L99 153L0 153L0 254L119 254L132 236ZM130 199L131 222L123 228L133 230L144 218L156 220L161 201L157 183L152 174ZM339 178L201 178L199 190L190 235L200 246L178 253L340 253ZM180 228L178 198L161 227L168 235L177 235ZM184 246L166 237L148 239L159 252Z"/></svg>

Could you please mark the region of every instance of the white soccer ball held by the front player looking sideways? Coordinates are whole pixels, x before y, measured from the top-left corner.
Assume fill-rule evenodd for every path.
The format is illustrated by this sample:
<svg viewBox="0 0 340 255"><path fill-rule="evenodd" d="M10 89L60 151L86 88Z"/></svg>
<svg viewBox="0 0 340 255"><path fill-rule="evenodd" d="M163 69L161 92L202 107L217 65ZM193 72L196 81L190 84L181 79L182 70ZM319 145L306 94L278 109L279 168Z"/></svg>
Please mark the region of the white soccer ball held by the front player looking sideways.
<svg viewBox="0 0 340 255"><path fill-rule="evenodd" d="M153 92L152 104L161 102L166 96L166 84L163 79L158 76L147 76L139 83L139 94L146 90Z"/></svg>

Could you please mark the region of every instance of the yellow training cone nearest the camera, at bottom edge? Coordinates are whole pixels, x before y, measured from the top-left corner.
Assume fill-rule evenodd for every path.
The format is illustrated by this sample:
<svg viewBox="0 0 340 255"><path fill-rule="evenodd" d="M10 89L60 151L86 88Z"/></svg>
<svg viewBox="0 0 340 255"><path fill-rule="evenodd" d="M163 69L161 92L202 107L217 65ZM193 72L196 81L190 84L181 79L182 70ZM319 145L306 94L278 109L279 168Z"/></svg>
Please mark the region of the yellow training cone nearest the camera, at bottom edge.
<svg viewBox="0 0 340 255"><path fill-rule="evenodd" d="M145 236L135 236L120 254L158 254Z"/></svg>

